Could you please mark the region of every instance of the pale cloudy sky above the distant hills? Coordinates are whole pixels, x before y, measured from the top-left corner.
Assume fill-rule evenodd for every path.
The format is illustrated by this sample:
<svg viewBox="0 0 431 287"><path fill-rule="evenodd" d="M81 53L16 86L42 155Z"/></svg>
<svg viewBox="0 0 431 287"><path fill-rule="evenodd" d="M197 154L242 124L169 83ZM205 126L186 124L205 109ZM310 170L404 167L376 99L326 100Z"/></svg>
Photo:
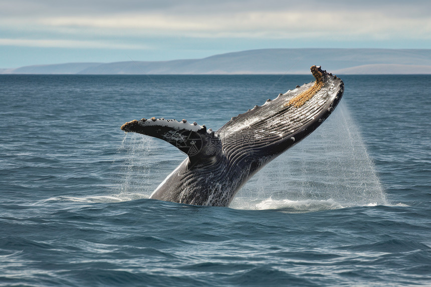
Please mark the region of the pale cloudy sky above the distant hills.
<svg viewBox="0 0 431 287"><path fill-rule="evenodd" d="M0 0L0 68L262 48L431 48L428 0Z"/></svg>

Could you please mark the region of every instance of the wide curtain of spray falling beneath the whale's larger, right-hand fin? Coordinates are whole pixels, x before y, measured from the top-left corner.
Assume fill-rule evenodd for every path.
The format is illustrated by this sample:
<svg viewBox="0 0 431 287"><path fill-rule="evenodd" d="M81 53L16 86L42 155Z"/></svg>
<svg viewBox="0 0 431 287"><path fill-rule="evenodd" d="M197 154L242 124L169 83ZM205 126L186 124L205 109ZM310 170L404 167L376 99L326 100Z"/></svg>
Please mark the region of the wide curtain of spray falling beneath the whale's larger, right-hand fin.
<svg viewBox="0 0 431 287"><path fill-rule="evenodd" d="M231 203L238 209L315 211L387 205L359 129L346 105L307 139L259 171Z"/></svg>

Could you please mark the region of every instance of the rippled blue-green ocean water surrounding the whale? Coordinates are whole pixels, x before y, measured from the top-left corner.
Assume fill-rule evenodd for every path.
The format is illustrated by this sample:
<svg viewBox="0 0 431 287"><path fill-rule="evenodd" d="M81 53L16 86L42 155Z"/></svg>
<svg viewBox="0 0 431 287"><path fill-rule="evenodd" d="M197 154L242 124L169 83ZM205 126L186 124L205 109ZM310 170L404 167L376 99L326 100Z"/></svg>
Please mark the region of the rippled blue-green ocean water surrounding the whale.
<svg viewBox="0 0 431 287"><path fill-rule="evenodd" d="M310 76L0 75L0 285L431 285L431 76L342 76L230 207L148 199L183 159L120 126L218 129Z"/></svg>

